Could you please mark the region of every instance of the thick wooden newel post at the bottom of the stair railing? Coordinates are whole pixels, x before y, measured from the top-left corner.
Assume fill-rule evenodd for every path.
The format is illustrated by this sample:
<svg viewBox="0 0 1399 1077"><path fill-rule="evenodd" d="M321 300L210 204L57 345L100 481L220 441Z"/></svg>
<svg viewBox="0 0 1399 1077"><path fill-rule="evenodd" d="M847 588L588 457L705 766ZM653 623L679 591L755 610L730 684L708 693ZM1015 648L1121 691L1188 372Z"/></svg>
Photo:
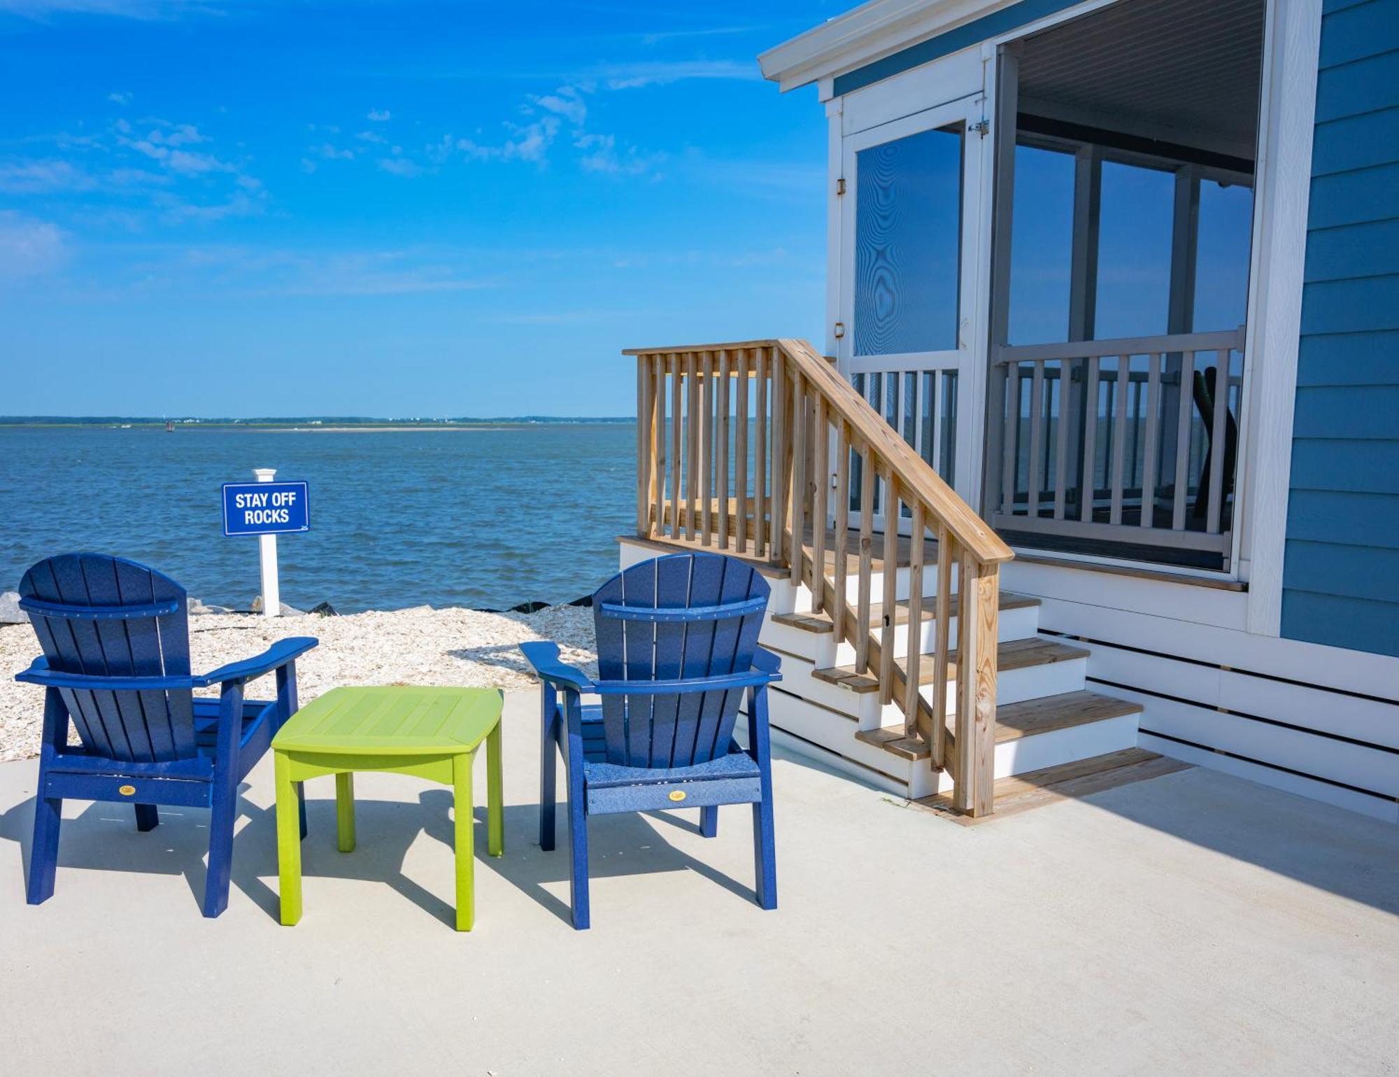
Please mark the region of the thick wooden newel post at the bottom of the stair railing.
<svg viewBox="0 0 1399 1077"><path fill-rule="evenodd" d="M957 608L957 787L970 815L995 810L997 568L963 551Z"/></svg>

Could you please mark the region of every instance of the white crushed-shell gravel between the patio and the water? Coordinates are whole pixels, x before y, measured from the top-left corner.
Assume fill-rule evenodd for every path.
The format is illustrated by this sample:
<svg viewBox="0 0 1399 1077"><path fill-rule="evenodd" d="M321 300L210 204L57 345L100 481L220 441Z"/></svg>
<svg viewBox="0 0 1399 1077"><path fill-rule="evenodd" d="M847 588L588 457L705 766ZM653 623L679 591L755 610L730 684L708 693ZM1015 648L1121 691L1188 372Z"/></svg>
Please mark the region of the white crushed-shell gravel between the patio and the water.
<svg viewBox="0 0 1399 1077"><path fill-rule="evenodd" d="M434 610L420 606L346 617L201 614L189 618L190 664L207 673L225 662L252 657L283 636L316 636L320 646L297 660L302 704L341 684L452 684L529 688L518 645L553 639L564 660L596 673L593 611L551 606L534 614ZM14 674L39 653L27 624L0 625L0 761L39 754L43 690L18 684ZM250 698L270 698L271 678L255 681ZM200 694L217 695L218 690Z"/></svg>

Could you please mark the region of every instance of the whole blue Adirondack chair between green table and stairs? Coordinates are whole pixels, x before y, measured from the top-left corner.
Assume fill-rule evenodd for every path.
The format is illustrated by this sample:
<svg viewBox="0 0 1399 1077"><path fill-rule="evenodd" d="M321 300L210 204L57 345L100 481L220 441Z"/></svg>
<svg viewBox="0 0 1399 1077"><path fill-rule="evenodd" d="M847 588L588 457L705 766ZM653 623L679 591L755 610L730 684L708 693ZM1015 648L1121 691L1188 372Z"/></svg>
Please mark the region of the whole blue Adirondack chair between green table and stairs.
<svg viewBox="0 0 1399 1077"><path fill-rule="evenodd" d="M558 659L554 643L522 643L541 681L539 843L554 848L554 748L568 771L574 927L589 923L588 817L700 808L718 834L720 804L753 804L758 905L775 909L772 764L767 687L781 680L758 646L768 585L718 554L673 554L632 565L593 594L597 680ZM748 748L733 740L744 692ZM562 694L562 699L560 699ZM600 705L585 705L596 694Z"/></svg>

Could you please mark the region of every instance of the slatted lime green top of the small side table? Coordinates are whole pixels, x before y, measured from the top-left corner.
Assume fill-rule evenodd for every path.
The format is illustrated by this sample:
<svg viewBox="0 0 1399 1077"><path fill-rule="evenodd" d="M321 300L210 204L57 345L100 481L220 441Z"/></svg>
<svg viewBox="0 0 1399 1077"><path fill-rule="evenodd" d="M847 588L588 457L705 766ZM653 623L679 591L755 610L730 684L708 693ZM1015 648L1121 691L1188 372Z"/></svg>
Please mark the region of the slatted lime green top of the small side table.
<svg viewBox="0 0 1399 1077"><path fill-rule="evenodd" d="M332 688L273 739L277 751L422 755L473 751L499 723L499 688Z"/></svg>

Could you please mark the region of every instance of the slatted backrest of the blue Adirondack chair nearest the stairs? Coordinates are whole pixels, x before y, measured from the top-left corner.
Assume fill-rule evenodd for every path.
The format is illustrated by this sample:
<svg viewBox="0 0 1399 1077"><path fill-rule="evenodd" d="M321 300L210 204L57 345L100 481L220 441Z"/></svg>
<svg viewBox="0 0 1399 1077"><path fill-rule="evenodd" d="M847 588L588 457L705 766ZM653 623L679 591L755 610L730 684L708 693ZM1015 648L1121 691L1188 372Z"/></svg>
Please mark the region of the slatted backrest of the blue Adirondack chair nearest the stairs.
<svg viewBox="0 0 1399 1077"><path fill-rule="evenodd" d="M593 594L597 678L656 681L746 673L769 587L719 554L670 554L613 576ZM741 690L603 695L607 762L690 766L729 750Z"/></svg>

